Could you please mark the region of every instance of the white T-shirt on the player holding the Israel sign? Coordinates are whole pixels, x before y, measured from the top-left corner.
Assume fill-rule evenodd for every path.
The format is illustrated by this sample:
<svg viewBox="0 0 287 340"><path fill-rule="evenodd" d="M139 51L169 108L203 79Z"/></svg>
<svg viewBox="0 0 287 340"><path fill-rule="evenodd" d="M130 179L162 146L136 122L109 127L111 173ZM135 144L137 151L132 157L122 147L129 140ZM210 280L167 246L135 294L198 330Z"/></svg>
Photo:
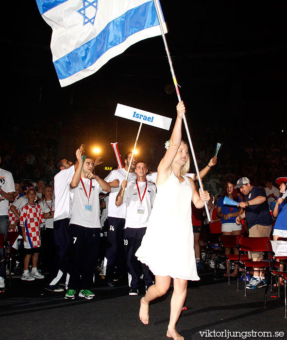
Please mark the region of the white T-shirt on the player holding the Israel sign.
<svg viewBox="0 0 287 340"><path fill-rule="evenodd" d="M137 229L147 227L152 212L152 204L156 195L155 185L147 182L147 189L144 197L143 193L145 191L146 182L137 182L137 185L142 204L140 204L136 183L131 183L125 189L123 197L127 206L125 228ZM138 213L138 211L143 213Z"/></svg>

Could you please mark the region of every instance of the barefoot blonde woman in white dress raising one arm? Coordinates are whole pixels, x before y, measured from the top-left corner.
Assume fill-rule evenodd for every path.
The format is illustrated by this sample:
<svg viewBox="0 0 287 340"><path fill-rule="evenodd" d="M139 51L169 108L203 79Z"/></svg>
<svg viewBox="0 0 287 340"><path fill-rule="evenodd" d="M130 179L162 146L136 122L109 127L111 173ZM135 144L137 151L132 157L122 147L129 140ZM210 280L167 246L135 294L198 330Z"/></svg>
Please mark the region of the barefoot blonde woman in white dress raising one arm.
<svg viewBox="0 0 287 340"><path fill-rule="evenodd" d="M199 280L193 249L191 201L197 208L203 208L209 193L198 192L193 180L184 176L190 163L188 146L181 140L184 103L179 102L176 109L169 148L157 168L157 195L147 232L135 255L155 275L155 284L141 299L141 322L149 323L149 303L168 291L173 278L167 337L183 340L175 325L186 299L187 280Z"/></svg>

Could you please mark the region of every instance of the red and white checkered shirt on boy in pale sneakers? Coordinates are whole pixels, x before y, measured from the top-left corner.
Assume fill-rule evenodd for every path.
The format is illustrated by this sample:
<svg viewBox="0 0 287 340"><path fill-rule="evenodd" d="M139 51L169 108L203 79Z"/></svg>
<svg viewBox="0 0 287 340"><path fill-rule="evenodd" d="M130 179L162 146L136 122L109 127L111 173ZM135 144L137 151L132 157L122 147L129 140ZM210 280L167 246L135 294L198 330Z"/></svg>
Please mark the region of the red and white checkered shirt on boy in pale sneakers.
<svg viewBox="0 0 287 340"><path fill-rule="evenodd" d="M20 213L20 226L25 228L25 248L40 247L40 224L44 222L44 216L39 204L27 203Z"/></svg>

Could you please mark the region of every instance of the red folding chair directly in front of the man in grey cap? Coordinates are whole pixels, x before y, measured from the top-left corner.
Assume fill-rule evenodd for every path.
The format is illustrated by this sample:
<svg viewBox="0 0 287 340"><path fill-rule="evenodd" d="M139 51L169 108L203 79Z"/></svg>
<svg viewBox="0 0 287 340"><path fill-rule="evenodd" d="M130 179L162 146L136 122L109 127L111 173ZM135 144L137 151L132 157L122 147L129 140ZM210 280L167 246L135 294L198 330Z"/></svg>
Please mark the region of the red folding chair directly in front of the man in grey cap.
<svg viewBox="0 0 287 340"><path fill-rule="evenodd" d="M246 268L265 268L267 272L270 275L270 270L274 268L279 267L279 262L275 262L275 259L273 257L273 254L271 254L270 249L271 243L270 238L250 238L250 237L241 237L239 238L239 262L238 265L241 266L242 271L244 272L244 296L246 296ZM266 253L267 260L261 260L261 261L253 261L252 259L244 259L242 257L241 252L264 252ZM271 258L270 258L271 255ZM272 261L271 261L272 259ZM269 276L270 277L270 276ZM237 277L237 290L239 290L239 276Z"/></svg>

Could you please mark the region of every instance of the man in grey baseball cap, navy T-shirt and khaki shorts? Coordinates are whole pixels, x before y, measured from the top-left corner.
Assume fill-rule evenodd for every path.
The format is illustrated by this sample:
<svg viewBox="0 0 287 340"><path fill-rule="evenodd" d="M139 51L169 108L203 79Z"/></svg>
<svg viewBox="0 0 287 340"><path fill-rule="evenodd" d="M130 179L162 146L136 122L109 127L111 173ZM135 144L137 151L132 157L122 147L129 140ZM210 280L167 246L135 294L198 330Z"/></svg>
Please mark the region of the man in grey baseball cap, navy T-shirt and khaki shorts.
<svg viewBox="0 0 287 340"><path fill-rule="evenodd" d="M238 207L245 210L236 217L236 223L239 225L241 219L247 221L249 237L270 237L272 219L265 191L261 187L253 187L247 177L239 178L235 188L237 187L244 195L244 202L240 202ZM249 256L253 261L263 260L262 252L250 252ZM246 288L255 289L266 286L264 272L259 272L259 270L259 268L254 268L253 277Z"/></svg>

